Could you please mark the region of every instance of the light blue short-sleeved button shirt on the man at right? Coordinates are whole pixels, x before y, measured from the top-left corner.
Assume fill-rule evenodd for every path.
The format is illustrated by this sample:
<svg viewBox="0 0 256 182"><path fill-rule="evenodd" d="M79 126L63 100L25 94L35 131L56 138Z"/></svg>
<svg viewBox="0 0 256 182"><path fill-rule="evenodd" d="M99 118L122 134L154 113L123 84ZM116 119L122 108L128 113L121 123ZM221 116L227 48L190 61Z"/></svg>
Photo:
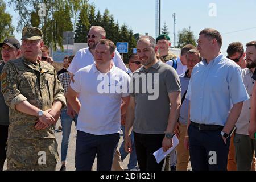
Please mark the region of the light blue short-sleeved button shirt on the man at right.
<svg viewBox="0 0 256 182"><path fill-rule="evenodd" d="M249 99L241 68L222 54L204 59L192 71L186 98L190 100L190 119L206 125L224 126L232 104Z"/></svg>

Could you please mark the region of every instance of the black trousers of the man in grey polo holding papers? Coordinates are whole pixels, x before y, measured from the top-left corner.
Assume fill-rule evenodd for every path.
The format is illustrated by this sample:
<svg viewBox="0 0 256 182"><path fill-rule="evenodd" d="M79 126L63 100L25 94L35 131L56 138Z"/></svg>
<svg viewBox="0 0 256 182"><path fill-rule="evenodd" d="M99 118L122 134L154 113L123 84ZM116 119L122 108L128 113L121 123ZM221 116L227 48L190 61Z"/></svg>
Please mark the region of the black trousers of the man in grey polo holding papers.
<svg viewBox="0 0 256 182"><path fill-rule="evenodd" d="M141 171L161 171L163 163L156 163L153 155L155 151L162 147L164 135L139 134L134 132L134 142L136 148L137 161Z"/></svg>

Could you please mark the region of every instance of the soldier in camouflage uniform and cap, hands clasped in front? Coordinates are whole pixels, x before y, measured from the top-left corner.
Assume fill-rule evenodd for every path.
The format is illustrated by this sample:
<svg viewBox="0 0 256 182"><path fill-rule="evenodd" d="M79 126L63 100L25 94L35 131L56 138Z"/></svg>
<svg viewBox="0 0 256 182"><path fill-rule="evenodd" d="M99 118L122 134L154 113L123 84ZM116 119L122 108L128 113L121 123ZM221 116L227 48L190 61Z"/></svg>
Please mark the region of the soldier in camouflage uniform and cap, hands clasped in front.
<svg viewBox="0 0 256 182"><path fill-rule="evenodd" d="M55 69L38 60L42 47L42 31L24 27L23 57L6 63L1 73L10 113L7 170L56 169L59 156L54 130L65 97Z"/></svg>

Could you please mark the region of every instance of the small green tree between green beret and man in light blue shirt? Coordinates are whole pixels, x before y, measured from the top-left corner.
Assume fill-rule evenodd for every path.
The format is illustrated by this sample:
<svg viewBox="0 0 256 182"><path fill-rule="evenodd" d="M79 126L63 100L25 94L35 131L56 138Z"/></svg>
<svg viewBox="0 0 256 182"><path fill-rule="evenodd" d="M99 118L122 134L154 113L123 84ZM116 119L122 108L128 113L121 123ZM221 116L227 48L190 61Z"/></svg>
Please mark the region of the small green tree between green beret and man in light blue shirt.
<svg viewBox="0 0 256 182"><path fill-rule="evenodd" d="M178 48L182 48L187 44L192 44L193 46L196 46L196 39L193 32L190 30L190 27L183 28L183 30L179 32L178 38L179 38L179 41L177 42Z"/></svg>

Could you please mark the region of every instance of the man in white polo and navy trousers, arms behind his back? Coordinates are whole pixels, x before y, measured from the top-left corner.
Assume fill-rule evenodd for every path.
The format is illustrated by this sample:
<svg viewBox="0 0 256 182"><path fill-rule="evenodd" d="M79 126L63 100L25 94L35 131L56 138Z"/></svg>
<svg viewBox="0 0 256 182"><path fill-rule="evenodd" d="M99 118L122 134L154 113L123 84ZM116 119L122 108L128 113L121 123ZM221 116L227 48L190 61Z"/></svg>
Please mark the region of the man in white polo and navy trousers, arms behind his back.
<svg viewBox="0 0 256 182"><path fill-rule="evenodd" d="M77 119L76 170L90 171L97 154L97 171L110 171L118 146L121 115L129 103L129 75L113 64L115 46L100 40L95 64L79 69L68 89ZM79 100L77 97L79 96Z"/></svg>

